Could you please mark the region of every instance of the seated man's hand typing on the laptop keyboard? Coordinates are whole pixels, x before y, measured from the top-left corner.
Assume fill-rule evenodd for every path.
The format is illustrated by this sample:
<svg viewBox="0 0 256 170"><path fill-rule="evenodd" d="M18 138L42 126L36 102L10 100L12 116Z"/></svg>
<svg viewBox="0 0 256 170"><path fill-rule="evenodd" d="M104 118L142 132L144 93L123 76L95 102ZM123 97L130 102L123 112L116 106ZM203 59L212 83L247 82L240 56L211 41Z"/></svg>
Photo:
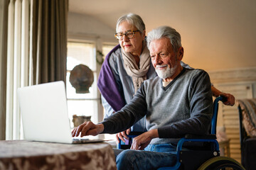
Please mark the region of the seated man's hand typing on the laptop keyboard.
<svg viewBox="0 0 256 170"><path fill-rule="evenodd" d="M104 130L104 125L102 124L95 125L92 122L85 122L85 123L82 123L82 125L79 125L77 128L75 128L72 131L72 136L78 137L80 132L81 132L80 137L87 136L87 135L95 136L95 135L98 135L100 132L103 132L103 130Z"/></svg>

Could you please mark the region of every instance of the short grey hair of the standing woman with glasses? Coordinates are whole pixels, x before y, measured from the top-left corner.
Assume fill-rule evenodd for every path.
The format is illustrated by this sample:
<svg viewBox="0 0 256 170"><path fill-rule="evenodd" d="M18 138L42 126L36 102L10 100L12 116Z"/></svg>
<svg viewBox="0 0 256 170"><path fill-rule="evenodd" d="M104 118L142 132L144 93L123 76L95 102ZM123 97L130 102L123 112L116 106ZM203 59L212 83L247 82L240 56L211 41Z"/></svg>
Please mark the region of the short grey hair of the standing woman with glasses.
<svg viewBox="0 0 256 170"><path fill-rule="evenodd" d="M124 16L121 16L117 20L116 31L118 31L119 25L124 21L127 21L128 23L132 24L132 26L135 26L141 33L143 33L143 31L146 29L145 24L140 16L134 13L128 13Z"/></svg>

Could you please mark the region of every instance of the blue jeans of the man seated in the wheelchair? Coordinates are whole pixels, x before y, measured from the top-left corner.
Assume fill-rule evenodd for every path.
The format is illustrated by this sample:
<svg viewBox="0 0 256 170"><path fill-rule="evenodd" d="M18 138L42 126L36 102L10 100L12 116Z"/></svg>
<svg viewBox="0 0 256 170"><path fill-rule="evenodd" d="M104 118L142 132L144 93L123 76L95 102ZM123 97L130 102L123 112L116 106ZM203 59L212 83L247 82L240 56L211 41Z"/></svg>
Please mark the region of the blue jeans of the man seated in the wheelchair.
<svg viewBox="0 0 256 170"><path fill-rule="evenodd" d="M157 169L163 166L174 166L176 147L171 144L149 145L143 151L132 149L114 149L117 169Z"/></svg>

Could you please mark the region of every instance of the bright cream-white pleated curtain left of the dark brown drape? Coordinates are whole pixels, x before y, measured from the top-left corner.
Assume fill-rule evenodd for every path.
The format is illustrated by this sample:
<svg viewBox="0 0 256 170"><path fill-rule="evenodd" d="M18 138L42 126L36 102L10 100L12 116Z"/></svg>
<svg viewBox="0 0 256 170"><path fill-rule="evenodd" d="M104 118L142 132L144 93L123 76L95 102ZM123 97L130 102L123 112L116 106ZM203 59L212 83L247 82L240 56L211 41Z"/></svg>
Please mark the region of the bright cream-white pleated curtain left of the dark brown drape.
<svg viewBox="0 0 256 170"><path fill-rule="evenodd" d="M23 134L17 89L21 86L28 86L29 5L29 0L9 1L6 69L6 140L22 139Z"/></svg>

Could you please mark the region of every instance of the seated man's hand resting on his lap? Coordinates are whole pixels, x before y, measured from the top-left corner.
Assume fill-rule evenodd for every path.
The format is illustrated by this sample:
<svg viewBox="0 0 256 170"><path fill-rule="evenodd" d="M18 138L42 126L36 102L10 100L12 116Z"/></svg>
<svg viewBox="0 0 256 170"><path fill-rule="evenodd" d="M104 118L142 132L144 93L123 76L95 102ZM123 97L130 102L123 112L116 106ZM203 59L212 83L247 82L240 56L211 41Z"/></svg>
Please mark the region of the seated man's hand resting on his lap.
<svg viewBox="0 0 256 170"><path fill-rule="evenodd" d="M143 150L153 138L159 137L157 129L149 130L148 132L142 133L137 137L134 137L132 140L132 147L131 149L134 150Z"/></svg>

